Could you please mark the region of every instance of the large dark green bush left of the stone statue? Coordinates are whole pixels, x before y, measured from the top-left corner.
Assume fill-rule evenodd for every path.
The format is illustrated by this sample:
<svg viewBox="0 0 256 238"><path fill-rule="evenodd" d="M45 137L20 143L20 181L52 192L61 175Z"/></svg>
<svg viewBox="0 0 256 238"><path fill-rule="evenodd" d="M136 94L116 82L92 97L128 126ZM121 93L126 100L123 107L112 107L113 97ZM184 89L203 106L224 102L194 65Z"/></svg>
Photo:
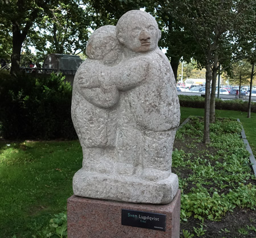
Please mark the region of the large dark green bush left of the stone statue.
<svg viewBox="0 0 256 238"><path fill-rule="evenodd" d="M61 75L0 75L0 121L6 139L77 138L72 87Z"/></svg>

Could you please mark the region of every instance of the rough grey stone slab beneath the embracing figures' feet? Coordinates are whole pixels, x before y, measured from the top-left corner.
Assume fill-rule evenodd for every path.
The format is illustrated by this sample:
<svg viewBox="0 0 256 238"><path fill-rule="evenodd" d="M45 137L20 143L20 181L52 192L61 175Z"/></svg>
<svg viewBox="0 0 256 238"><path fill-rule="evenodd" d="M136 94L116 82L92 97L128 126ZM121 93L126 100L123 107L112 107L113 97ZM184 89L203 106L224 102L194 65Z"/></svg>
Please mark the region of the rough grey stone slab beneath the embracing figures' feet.
<svg viewBox="0 0 256 238"><path fill-rule="evenodd" d="M76 196L121 202L167 204L179 189L175 173L161 181L146 181L139 177L104 175L80 169L73 177Z"/></svg>

